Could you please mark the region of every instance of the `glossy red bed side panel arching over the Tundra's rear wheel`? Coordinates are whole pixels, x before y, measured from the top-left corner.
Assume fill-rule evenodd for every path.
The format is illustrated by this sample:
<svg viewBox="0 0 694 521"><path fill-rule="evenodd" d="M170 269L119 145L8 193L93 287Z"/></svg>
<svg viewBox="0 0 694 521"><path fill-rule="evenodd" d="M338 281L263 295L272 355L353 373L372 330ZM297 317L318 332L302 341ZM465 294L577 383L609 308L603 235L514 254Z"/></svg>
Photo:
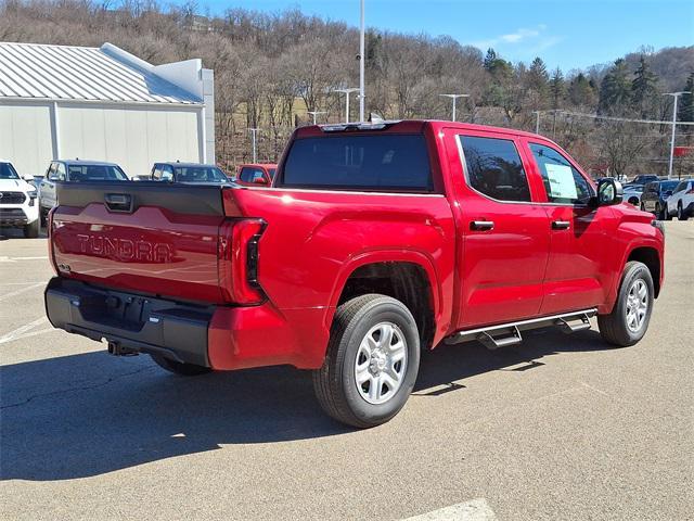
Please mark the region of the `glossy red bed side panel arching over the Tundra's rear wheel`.
<svg viewBox="0 0 694 521"><path fill-rule="evenodd" d="M370 263L422 266L433 289L435 340L450 326L455 232L444 195L254 188L233 196L227 190L224 201L267 221L260 284L282 312L317 312L323 348L345 281Z"/></svg>

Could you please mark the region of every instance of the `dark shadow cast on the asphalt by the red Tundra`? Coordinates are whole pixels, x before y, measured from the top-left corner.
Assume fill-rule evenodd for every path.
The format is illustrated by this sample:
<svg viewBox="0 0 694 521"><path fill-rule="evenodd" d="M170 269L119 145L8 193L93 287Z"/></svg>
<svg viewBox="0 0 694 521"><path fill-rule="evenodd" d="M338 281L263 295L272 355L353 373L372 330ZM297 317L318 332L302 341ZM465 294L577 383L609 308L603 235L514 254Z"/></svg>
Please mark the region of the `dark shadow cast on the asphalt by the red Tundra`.
<svg viewBox="0 0 694 521"><path fill-rule="evenodd" d="M441 345L423 357L415 394L435 396L429 389L448 386L462 389L457 395L465 399L465 378L518 364L512 370L536 370L562 352L611 348L594 331L527 336L496 352ZM354 432L322 412L308 371L285 367L182 378L149 356L92 352L4 366L0 398L3 480L85 478L226 444Z"/></svg>

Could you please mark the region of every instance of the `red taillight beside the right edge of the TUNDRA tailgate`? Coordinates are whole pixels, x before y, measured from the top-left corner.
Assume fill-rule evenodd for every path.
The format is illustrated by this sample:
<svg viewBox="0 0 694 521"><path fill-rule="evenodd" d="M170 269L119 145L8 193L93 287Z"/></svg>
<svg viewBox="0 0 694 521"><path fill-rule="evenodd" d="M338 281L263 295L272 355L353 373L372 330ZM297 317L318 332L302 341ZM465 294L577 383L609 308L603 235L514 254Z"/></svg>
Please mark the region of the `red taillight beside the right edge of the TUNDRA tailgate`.
<svg viewBox="0 0 694 521"><path fill-rule="evenodd" d="M266 300L258 282L262 219L229 219L219 228L219 288L224 301L254 305Z"/></svg>

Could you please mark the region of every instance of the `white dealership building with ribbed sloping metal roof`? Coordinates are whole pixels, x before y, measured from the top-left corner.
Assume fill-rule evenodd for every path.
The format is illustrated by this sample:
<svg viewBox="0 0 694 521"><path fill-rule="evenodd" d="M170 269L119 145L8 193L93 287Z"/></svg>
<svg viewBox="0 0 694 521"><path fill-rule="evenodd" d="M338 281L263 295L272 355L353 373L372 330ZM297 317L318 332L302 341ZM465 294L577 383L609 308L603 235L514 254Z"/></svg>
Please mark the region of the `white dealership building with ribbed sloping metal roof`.
<svg viewBox="0 0 694 521"><path fill-rule="evenodd" d="M213 71L201 60L152 65L100 48L0 42L0 157L23 176L51 160L215 163Z"/></svg>

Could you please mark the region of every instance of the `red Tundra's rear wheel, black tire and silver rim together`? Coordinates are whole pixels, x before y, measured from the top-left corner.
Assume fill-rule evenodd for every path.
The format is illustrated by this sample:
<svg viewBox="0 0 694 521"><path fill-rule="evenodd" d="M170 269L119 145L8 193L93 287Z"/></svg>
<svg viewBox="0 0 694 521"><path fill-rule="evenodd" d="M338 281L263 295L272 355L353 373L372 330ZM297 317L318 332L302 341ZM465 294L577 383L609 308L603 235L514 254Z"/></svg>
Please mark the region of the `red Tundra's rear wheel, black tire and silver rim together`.
<svg viewBox="0 0 694 521"><path fill-rule="evenodd" d="M337 308L313 389L330 416L361 429L385 423L404 406L420 368L420 335L400 301L368 294Z"/></svg>

